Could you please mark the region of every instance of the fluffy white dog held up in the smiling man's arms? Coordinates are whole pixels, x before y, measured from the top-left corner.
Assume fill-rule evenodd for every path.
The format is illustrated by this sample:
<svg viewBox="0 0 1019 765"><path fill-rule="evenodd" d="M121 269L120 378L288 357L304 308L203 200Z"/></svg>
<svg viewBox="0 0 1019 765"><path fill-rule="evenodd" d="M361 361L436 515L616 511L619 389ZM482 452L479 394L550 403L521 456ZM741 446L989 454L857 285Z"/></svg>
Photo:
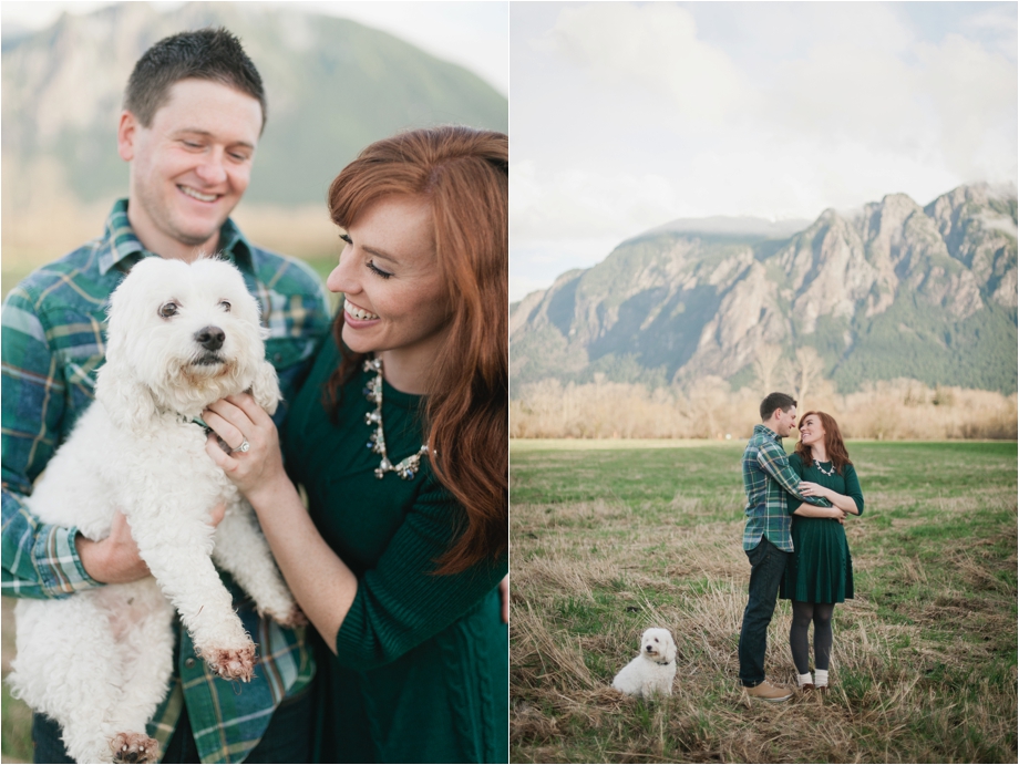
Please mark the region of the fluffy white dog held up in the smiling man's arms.
<svg viewBox="0 0 1019 765"><path fill-rule="evenodd" d="M206 434L193 422L244 391L275 412L279 384L264 335L257 302L224 260L146 258L111 298L96 401L27 503L43 523L76 526L96 540L120 509L153 577L21 600L10 675L17 695L60 723L78 762L157 762L145 723L166 693L174 609L213 671L251 678L255 644L214 560L261 613L302 621L251 507L206 454ZM214 529L210 510L220 502L227 513Z"/></svg>

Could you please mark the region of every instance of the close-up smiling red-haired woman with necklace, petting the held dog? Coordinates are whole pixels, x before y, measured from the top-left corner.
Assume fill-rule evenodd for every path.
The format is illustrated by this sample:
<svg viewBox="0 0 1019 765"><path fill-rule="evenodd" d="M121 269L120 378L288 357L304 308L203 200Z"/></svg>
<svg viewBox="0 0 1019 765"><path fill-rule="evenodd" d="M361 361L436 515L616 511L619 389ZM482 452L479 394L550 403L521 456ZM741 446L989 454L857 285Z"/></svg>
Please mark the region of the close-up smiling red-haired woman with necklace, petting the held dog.
<svg viewBox="0 0 1019 765"><path fill-rule="evenodd" d="M507 149L413 131L332 183L344 306L286 472L249 396L205 413L318 633L321 762L508 759Z"/></svg>

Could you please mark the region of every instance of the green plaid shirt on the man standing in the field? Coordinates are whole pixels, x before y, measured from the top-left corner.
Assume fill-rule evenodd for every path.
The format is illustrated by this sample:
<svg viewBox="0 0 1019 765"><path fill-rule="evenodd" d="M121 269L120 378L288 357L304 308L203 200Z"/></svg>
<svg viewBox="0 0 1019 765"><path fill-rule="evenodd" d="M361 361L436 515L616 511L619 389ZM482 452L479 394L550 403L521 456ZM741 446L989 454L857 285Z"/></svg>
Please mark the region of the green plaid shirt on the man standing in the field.
<svg viewBox="0 0 1019 765"><path fill-rule="evenodd" d="M811 505L831 507L821 497L800 494L800 477L789 466L782 440L770 427L754 425L743 452L743 488L747 490L747 526L743 549L752 550L764 537L780 550L793 551L789 495Z"/></svg>

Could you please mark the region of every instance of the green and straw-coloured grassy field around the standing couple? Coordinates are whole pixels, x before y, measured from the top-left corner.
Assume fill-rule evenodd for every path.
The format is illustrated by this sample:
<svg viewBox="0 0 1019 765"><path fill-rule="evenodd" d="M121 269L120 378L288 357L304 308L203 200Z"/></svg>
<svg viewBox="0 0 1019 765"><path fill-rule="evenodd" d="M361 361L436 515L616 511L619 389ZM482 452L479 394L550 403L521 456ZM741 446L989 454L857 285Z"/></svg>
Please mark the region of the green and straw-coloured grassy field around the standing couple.
<svg viewBox="0 0 1019 765"><path fill-rule="evenodd" d="M775 705L737 679L742 444L585 446L511 445L512 762L1017 761L1015 442L848 444L833 691ZM766 666L792 686L789 622ZM609 688L648 627L679 647L658 703Z"/></svg>

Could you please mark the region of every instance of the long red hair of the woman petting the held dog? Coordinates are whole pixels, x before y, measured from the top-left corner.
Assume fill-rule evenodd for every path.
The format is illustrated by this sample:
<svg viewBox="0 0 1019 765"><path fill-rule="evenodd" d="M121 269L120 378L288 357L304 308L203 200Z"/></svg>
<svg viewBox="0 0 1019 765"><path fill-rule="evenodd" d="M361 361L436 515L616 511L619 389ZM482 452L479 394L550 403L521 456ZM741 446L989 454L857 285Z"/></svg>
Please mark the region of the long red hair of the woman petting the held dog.
<svg viewBox="0 0 1019 765"><path fill-rule="evenodd" d="M383 197L431 206L451 316L423 427L435 476L466 509L436 573L501 557L508 545L508 163L502 133L415 130L366 148L329 188L329 213L344 229ZM332 331L343 360L326 392L333 409L364 359L343 347L342 329L339 311Z"/></svg>

